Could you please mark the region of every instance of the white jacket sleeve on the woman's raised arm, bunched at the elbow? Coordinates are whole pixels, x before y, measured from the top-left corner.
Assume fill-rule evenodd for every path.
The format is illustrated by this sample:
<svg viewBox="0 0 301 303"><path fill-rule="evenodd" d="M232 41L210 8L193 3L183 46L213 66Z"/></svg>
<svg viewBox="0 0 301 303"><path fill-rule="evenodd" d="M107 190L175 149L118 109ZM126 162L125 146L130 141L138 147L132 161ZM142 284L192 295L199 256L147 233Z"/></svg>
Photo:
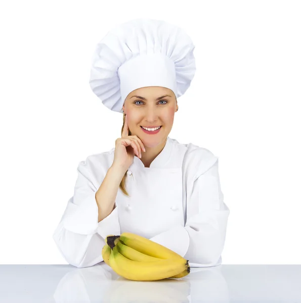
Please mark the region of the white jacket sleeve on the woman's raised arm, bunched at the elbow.
<svg viewBox="0 0 301 303"><path fill-rule="evenodd" d="M95 186L95 177L84 161L79 163L77 173L74 194L68 200L53 239L64 259L69 264L82 268L103 261L101 252L105 237L109 234L119 235L120 225L118 206L98 223L95 198L98 188Z"/></svg>

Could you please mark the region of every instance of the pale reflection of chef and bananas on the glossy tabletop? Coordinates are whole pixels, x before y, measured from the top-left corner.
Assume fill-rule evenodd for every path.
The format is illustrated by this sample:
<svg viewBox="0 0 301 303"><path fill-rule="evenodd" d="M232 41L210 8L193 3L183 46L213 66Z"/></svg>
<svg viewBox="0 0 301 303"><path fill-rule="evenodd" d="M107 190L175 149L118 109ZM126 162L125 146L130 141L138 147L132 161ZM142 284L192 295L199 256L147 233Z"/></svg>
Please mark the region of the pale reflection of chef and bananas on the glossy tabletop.
<svg viewBox="0 0 301 303"><path fill-rule="evenodd" d="M180 279L132 281L101 262L65 274L49 302L230 302L221 267L191 268Z"/></svg>

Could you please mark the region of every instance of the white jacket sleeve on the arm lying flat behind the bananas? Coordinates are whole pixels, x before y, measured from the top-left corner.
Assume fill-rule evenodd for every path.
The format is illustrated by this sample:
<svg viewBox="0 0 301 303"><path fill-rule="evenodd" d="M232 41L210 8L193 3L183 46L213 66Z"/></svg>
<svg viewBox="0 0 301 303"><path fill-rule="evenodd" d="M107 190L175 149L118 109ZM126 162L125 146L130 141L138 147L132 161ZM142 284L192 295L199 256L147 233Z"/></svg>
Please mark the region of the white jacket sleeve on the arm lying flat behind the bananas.
<svg viewBox="0 0 301 303"><path fill-rule="evenodd" d="M160 233L151 240L189 260L190 267L210 267L222 263L228 216L221 191L218 158L193 178L187 189L186 223ZM212 164L213 163L213 164Z"/></svg>

